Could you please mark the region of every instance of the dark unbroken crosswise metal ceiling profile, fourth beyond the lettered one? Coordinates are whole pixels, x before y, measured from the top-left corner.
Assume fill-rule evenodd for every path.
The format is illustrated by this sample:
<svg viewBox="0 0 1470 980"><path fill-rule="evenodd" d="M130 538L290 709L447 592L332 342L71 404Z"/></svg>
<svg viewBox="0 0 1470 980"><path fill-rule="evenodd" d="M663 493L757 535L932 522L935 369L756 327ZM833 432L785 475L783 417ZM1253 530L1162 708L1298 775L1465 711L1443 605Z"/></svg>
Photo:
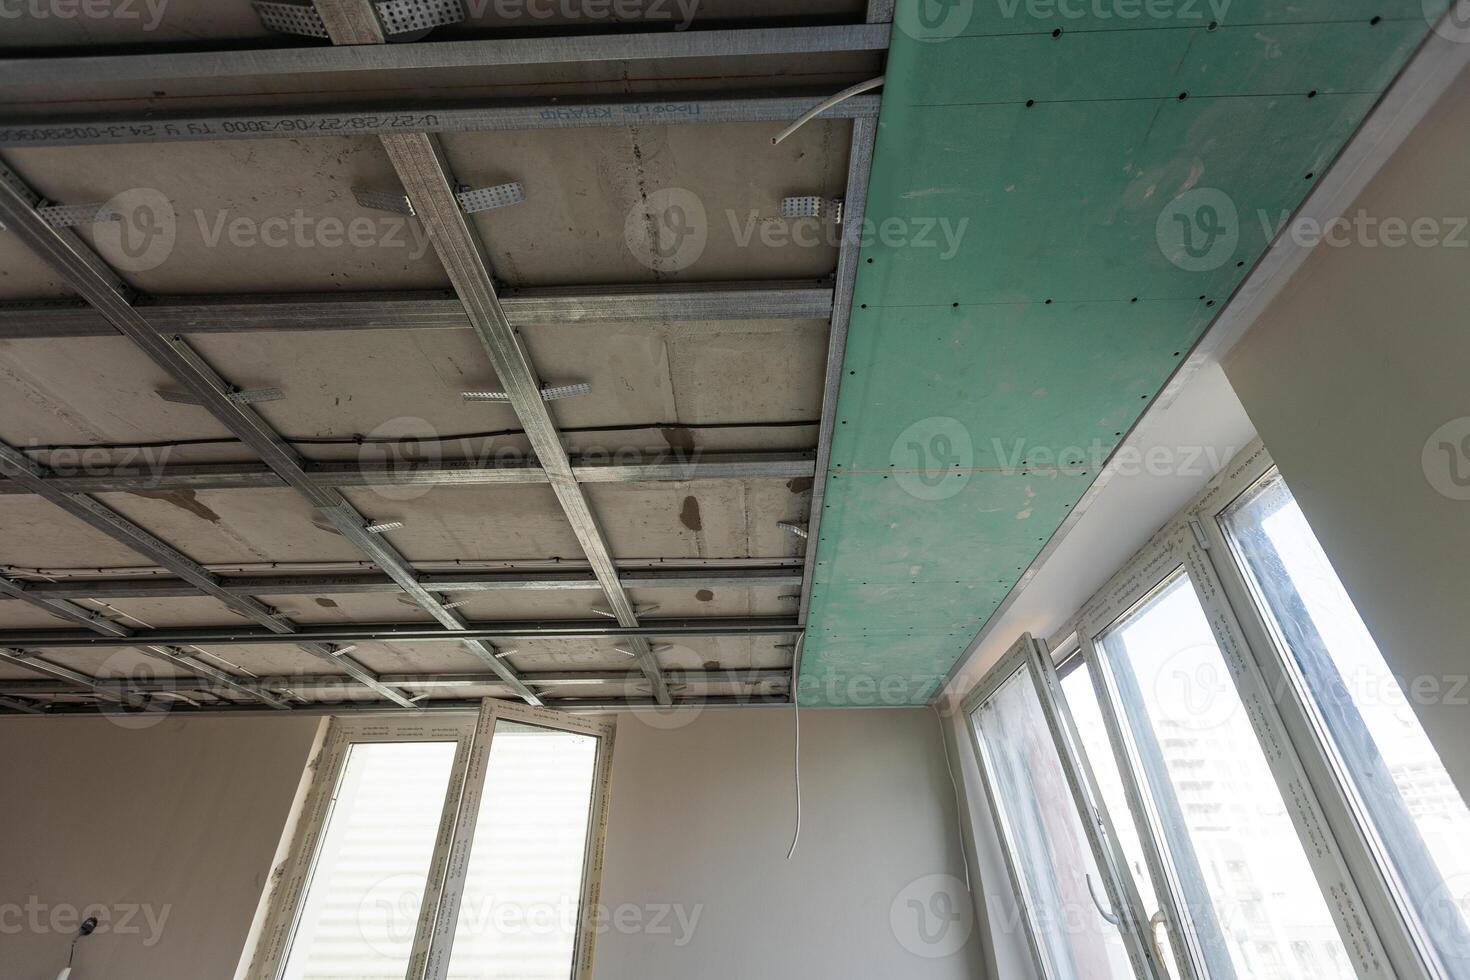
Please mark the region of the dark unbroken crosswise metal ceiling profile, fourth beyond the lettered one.
<svg viewBox="0 0 1470 980"><path fill-rule="evenodd" d="M789 616L684 617L622 626L607 620L507 620L466 623L453 630L423 623L353 623L295 626L290 633L232 626L134 630L129 636L103 636L79 630L0 630L0 646L56 649L68 646L272 646L281 644L460 644L467 639L645 639L650 636L786 636L801 627ZM341 660L341 658L338 658Z"/></svg>

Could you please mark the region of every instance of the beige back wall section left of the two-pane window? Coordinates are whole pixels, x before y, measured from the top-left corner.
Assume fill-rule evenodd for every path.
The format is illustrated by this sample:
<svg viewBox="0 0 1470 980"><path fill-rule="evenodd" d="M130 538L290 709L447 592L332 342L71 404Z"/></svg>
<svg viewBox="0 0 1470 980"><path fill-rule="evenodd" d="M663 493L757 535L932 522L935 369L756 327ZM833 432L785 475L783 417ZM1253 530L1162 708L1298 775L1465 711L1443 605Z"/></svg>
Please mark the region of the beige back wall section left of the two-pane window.
<svg viewBox="0 0 1470 980"><path fill-rule="evenodd" d="M96 914L76 980L231 977L316 727L0 720L0 976L53 980Z"/></svg>

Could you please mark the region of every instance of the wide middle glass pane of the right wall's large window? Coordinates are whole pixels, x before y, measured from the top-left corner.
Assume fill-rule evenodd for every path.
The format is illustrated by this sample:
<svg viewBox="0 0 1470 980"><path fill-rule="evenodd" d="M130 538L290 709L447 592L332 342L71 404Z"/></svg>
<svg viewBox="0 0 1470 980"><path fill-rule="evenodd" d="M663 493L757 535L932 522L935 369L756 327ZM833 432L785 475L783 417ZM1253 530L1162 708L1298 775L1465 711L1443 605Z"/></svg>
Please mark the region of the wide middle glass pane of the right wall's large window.
<svg viewBox="0 0 1470 980"><path fill-rule="evenodd" d="M1352 980L1189 577L1176 573L1100 646L1210 973Z"/></svg>

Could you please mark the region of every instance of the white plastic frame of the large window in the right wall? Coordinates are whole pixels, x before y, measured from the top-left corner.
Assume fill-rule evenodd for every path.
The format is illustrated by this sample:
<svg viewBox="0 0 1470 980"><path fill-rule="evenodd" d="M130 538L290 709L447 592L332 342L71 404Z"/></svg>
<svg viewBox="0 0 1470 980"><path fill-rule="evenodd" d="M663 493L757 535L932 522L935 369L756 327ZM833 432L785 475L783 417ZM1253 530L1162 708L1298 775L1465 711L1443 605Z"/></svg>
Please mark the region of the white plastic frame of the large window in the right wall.
<svg viewBox="0 0 1470 980"><path fill-rule="evenodd" d="M1050 680L1041 688L1057 686L1057 664L1080 657L1086 664L1102 720L1108 732L1108 746L1114 754L1127 807L1135 815L1142 815L1139 840L1145 852L1145 864L1158 896L1161 924L1173 939L1175 967L1183 980L1230 980L1233 967L1210 970L1208 958L1200 948L1195 930L1185 929L1192 914L1205 909L1185 911L1182 883L1177 868L1161 849L1160 817L1152 813L1152 801L1139 783L1141 771L1127 741L1130 735L1122 724L1113 677L1107 658L1100 655L1100 638L1125 616L1147 602L1157 591L1179 574L1189 579L1211 633L1227 666L1230 680L1245 705L1252 732L1260 742L1273 779L1288 804L1288 813L1304 852L1322 889L1323 898L1333 915L1338 934L1348 951L1348 958L1360 980L1448 980L1427 952L1427 945L1395 896L1395 884L1385 867L1382 855L1370 842L1369 832L1360 823L1360 814L1351 790L1345 789L1335 751L1326 733L1314 721L1310 695L1301 689L1294 669L1286 657L1291 654L1276 642L1261 608L1239 569L1227 533L1220 525L1222 514L1260 479L1274 469L1260 441L1252 442L1230 461L1210 483L1126 561L1098 589L1066 624L1053 635L1050 644L1038 644L1023 636L1017 645L991 667L980 682L961 701L970 721L972 745L979 760L985 792L1001 851L1007 861L1007 873L1017 902L1023 908L1032 955L1039 976L1047 976L1041 959L1029 909L1025 909L1016 868L1011 865L1010 845L1001 826L1003 817L995 788L986 771L982 741L975 730L972 714L991 696L1000 685L1017 670L1033 670L1033 676ZM1036 667L1023 664L1023 648L1032 644L1039 651ZM1053 655L1051 649L1057 651ZM1066 717L1070 727L1070 710L1060 688L1044 693L1042 704L1050 705L1058 717ZM1055 738L1055 732L1054 732ZM1070 736L1076 738L1075 729ZM1064 739L1063 739L1064 742ZM1061 748L1058 745L1058 748ZM1095 790L1091 764L1085 751L1061 751L1069 767L1078 770L1083 785L1092 786L1091 799L1101 801ZM1070 780L1070 774L1069 774ZM1088 814L1088 799L1076 793L1079 813ZM1117 815L1123 818L1122 814ZM1110 814L1097 808L1097 824L1102 829L1100 837L1117 849L1116 835L1110 832ZM1083 823L1089 821L1083 818ZM1136 896L1132 874L1126 861L1114 858L1113 873L1120 879L1111 883ZM1152 936L1147 936L1147 909L1138 908L1133 929L1144 933L1145 945L1155 954ZM1136 940L1135 940L1136 942ZM1163 976L1169 976L1164 973Z"/></svg>

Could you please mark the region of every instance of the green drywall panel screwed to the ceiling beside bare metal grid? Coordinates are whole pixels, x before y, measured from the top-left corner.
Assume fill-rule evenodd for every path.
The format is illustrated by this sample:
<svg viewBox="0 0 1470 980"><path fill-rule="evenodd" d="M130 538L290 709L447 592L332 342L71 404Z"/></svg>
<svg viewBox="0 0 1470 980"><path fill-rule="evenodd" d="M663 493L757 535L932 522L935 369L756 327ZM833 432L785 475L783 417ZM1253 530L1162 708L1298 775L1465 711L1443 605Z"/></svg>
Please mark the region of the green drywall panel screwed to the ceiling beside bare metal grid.
<svg viewBox="0 0 1470 980"><path fill-rule="evenodd" d="M1421 0L898 7L810 705L932 699L1429 31Z"/></svg>

